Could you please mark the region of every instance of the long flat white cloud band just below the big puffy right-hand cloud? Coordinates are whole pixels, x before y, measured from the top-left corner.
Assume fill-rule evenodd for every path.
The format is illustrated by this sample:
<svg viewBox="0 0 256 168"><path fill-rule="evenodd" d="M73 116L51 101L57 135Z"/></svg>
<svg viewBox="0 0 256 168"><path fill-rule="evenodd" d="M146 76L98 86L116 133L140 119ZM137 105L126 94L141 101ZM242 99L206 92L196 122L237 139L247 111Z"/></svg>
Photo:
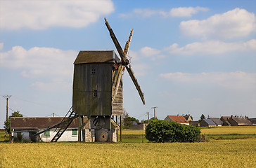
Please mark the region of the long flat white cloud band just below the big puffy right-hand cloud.
<svg viewBox="0 0 256 168"><path fill-rule="evenodd" d="M256 50L256 40L252 39L247 42L234 43L225 43L222 41L194 42L184 47L179 47L177 43L174 43L168 48L165 48L165 50L169 51L170 54L177 55L216 55L230 51Z"/></svg>

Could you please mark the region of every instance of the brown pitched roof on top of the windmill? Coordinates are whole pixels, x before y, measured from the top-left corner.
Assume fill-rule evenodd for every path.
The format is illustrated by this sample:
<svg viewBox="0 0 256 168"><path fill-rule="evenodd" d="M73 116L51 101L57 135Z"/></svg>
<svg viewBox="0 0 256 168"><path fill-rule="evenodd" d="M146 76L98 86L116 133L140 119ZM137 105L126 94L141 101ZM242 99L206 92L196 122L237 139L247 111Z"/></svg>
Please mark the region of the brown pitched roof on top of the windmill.
<svg viewBox="0 0 256 168"><path fill-rule="evenodd" d="M114 50L87 50L79 52L74 64L115 63L119 60Z"/></svg>

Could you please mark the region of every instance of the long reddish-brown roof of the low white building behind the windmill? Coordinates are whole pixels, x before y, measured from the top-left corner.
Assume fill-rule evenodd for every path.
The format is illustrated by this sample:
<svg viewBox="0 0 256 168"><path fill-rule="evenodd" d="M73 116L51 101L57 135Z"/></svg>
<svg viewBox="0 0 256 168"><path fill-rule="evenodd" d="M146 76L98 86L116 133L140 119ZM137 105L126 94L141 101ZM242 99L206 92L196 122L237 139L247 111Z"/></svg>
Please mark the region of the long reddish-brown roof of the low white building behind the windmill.
<svg viewBox="0 0 256 168"><path fill-rule="evenodd" d="M61 117L48 117L48 118L40 118L40 117L11 117L11 129L14 130L38 130L38 129L46 129L53 125L60 123L63 120ZM78 127L78 118L72 121L69 126L70 128Z"/></svg>

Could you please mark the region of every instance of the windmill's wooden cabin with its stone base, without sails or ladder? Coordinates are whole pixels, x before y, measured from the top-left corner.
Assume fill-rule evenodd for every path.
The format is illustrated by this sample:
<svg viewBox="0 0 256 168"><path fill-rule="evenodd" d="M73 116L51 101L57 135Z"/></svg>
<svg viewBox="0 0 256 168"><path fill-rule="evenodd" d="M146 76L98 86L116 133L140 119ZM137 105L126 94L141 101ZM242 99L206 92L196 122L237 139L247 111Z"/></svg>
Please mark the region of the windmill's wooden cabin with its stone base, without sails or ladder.
<svg viewBox="0 0 256 168"><path fill-rule="evenodd" d="M122 74L120 85L115 83L118 62L113 50L80 51L75 59L72 109L90 118L89 127L82 128L84 141L117 141L112 118L122 116Z"/></svg>

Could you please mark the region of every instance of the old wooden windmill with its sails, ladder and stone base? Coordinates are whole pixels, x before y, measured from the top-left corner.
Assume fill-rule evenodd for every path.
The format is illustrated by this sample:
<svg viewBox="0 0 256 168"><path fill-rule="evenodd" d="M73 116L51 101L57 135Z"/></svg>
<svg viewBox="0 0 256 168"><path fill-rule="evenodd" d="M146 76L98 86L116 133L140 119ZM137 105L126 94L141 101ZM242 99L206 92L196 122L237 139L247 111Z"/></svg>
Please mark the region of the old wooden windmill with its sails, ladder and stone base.
<svg viewBox="0 0 256 168"><path fill-rule="evenodd" d="M122 116L123 113L122 71L124 69L127 69L141 101L145 104L143 92L127 59L133 29L122 50L106 19L105 25L120 58L114 50L79 52L74 62L72 111L69 111L70 115L67 114L68 117L61 123L49 128L56 127L58 131L51 141L58 141L75 118L79 118L78 141L82 139L83 141L117 141L117 116ZM89 120L84 122L84 116ZM114 116L116 116L116 121Z"/></svg>

